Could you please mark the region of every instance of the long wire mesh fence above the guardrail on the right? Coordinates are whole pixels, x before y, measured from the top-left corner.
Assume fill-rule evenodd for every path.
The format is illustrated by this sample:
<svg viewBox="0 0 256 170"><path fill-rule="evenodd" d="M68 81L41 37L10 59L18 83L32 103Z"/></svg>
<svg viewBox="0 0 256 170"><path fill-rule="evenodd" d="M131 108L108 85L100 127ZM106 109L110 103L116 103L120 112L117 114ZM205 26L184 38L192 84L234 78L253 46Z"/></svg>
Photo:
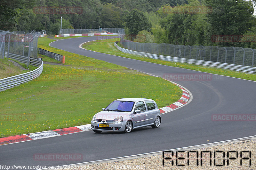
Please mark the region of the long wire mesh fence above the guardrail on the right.
<svg viewBox="0 0 256 170"><path fill-rule="evenodd" d="M120 44L126 49L144 53L251 67L256 66L256 49L252 48L138 43L126 40L123 37L121 37Z"/></svg>

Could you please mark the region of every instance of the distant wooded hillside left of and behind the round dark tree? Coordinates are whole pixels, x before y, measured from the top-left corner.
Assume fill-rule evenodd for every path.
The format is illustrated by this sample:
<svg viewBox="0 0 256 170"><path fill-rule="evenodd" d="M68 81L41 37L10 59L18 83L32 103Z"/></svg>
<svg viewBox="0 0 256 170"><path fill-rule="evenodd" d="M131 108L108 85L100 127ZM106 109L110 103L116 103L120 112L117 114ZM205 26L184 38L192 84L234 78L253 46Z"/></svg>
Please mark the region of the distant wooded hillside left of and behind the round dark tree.
<svg viewBox="0 0 256 170"><path fill-rule="evenodd" d="M155 12L166 3L184 4L186 0L1 0L0 30L56 34L61 16L62 28L124 28L123 19L133 9Z"/></svg>

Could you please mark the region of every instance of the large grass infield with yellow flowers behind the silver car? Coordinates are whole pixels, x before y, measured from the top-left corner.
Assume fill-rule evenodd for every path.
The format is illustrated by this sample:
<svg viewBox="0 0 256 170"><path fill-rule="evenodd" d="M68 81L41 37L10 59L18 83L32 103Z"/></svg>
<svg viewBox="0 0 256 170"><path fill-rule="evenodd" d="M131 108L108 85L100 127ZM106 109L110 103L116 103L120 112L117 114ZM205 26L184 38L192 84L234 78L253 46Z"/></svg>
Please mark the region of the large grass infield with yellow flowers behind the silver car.
<svg viewBox="0 0 256 170"><path fill-rule="evenodd" d="M95 113L118 98L143 94L160 108L181 97L179 87L169 81L55 49L48 46L52 41L39 38L38 46L65 55L66 64L45 64L36 80L0 92L0 137L89 124ZM20 115L33 119L14 118Z"/></svg>

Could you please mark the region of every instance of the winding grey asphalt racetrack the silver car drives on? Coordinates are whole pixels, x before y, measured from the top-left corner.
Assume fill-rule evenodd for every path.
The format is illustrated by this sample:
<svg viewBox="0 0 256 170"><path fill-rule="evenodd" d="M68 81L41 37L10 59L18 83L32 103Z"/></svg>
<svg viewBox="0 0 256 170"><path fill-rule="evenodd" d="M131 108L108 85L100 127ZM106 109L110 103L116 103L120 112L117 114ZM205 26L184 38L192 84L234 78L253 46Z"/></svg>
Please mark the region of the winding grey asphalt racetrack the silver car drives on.
<svg viewBox="0 0 256 170"><path fill-rule="evenodd" d="M52 42L50 45L159 77L178 74L193 76L205 74L188 69L92 52L78 47L83 42L96 39L99 38L70 38ZM213 118L218 114L239 114L242 116L255 114L256 82L214 74L210 74L208 80L177 80L174 82L187 88L192 93L193 100L178 110L162 115L162 123L158 129L149 126L133 130L128 134L112 132L96 134L89 130L52 138L1 145L0 165L68 165L255 135L255 121L215 121ZM34 159L35 154L49 153L81 154L83 159L57 161L38 161Z"/></svg>

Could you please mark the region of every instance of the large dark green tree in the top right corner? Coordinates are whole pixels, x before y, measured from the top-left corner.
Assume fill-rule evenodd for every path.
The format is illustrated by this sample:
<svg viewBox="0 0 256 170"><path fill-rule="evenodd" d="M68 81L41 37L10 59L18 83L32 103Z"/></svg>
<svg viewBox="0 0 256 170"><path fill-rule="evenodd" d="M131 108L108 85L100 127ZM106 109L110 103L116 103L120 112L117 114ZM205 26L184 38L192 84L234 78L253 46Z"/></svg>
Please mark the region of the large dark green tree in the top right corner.
<svg viewBox="0 0 256 170"><path fill-rule="evenodd" d="M246 0L206 0L212 12L206 15L212 35L243 35L254 22L253 5ZM235 42L217 42L217 46L239 46Z"/></svg>

